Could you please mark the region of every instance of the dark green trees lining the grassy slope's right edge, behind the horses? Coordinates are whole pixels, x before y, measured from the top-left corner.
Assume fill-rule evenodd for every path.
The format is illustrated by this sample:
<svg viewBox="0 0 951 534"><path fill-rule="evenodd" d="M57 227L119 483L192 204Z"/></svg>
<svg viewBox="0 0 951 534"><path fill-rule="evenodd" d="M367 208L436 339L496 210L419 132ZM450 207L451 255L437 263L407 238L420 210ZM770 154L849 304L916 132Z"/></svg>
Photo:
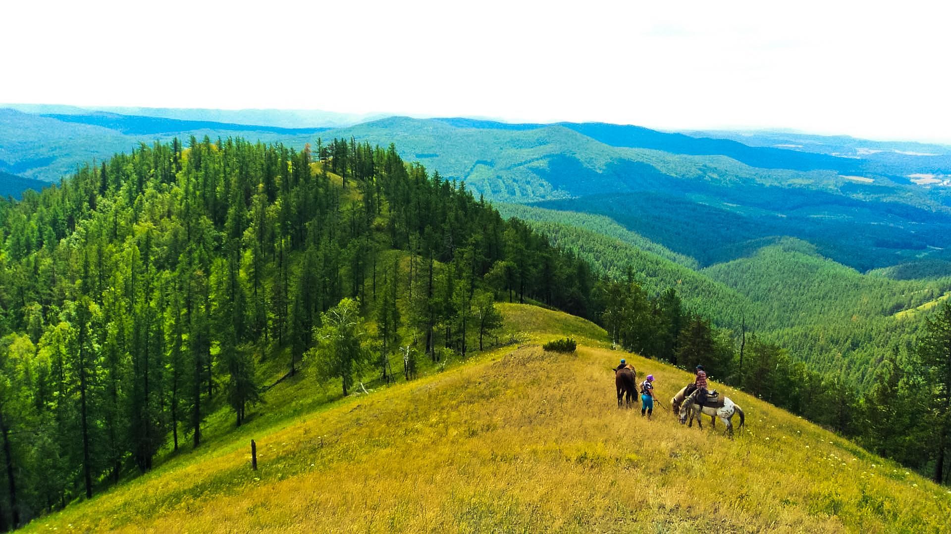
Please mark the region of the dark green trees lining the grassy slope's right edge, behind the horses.
<svg viewBox="0 0 951 534"><path fill-rule="evenodd" d="M844 372L816 372L776 343L717 329L685 310L673 289L650 296L629 273L598 286L602 322L621 348L693 370L855 439L937 483L951 474L951 305L924 321L915 343L893 337L874 378L859 388ZM844 362L840 361L844 368ZM687 384L684 384L685 386ZM674 385L676 386L676 385Z"/></svg>

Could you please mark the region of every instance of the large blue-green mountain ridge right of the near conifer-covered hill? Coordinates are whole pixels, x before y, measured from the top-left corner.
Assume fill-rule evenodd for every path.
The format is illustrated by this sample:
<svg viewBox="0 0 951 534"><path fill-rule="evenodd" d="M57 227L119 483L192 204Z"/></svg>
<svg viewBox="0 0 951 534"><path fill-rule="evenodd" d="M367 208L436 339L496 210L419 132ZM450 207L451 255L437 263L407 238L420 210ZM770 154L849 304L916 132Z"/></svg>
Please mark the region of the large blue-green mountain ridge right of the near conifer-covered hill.
<svg viewBox="0 0 951 534"><path fill-rule="evenodd" d="M863 272L951 254L951 210L942 205L939 187L891 174L843 174L858 172L843 166L855 160L779 148L751 149L756 158L772 158L746 158L765 165L756 167L723 154L732 153L726 148L703 154L715 152L716 143L650 132L607 124L390 118L321 135L393 140L406 160L465 181L488 200L547 199L537 205L606 216L703 266L784 236L807 240L823 256ZM773 158L772 151L779 154ZM800 165L805 170L775 168L786 157L813 156Z"/></svg>

